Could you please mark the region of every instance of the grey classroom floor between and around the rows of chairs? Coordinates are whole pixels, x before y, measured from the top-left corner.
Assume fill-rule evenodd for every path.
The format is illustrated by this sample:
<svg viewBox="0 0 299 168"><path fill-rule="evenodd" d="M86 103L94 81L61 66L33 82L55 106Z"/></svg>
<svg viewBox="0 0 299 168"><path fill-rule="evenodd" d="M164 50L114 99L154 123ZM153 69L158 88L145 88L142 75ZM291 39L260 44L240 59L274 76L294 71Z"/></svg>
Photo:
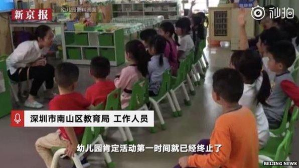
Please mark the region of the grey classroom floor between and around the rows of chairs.
<svg viewBox="0 0 299 168"><path fill-rule="evenodd" d="M231 51L227 47L206 48L205 53L210 62L210 67L206 72L206 78L200 86L196 87L196 95L191 96L192 105L185 106L183 95L178 91L178 98L183 110L183 116L174 118L171 115L168 103L161 105L162 113L167 124L166 130L158 129L158 132L151 134L146 128L131 128L137 143L146 146L154 144L190 144L196 143L202 138L209 138L217 116L221 108L211 96L212 75L217 69L226 67L229 64ZM92 84L88 74L88 66L80 65L79 87L77 91L84 93L87 86ZM122 66L121 66L122 67ZM118 73L121 67L113 67L109 77ZM41 99L41 102L42 99ZM48 101L44 101L47 108ZM15 107L15 108L23 108ZM299 123L299 122L298 122ZM298 127L299 124L296 125ZM10 116L0 118L0 167L22 167L35 168L45 167L42 159L35 150L34 143L40 136L55 131L51 127L27 127L14 128L10 126ZM122 139L117 128L110 128L106 143L121 143ZM293 138L293 148L298 149L299 129L297 128ZM146 150L142 153L110 153L116 167L121 168L152 168L152 167L173 167L180 156L188 153L154 153L153 150ZM88 157L90 167L105 167L101 153L92 153ZM291 161L299 160L299 152L293 150L290 155ZM71 167L68 160L61 161L62 167Z"/></svg>

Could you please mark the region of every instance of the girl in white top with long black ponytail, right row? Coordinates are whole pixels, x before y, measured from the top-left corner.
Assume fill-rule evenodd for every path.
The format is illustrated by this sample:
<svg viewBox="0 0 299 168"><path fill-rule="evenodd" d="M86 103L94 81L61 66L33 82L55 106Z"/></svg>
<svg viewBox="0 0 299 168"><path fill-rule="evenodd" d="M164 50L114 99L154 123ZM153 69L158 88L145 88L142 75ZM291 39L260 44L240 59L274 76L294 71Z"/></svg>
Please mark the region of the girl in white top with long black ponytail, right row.
<svg viewBox="0 0 299 168"><path fill-rule="evenodd" d="M262 71L262 59L254 50L236 51L231 56L230 66L238 70L244 79L243 95L239 101L251 109L257 123L259 147L263 148L269 138L269 124L262 105L270 95L270 81Z"/></svg>

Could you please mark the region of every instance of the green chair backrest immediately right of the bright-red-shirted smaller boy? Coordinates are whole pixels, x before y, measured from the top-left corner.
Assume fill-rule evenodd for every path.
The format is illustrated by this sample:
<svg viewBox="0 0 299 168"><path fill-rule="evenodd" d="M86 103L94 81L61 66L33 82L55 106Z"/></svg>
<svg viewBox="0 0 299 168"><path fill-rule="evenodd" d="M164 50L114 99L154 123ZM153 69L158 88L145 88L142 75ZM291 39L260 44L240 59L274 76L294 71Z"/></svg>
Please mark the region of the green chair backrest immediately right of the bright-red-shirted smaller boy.
<svg viewBox="0 0 299 168"><path fill-rule="evenodd" d="M120 88L116 88L107 95L105 110L120 110Z"/></svg>

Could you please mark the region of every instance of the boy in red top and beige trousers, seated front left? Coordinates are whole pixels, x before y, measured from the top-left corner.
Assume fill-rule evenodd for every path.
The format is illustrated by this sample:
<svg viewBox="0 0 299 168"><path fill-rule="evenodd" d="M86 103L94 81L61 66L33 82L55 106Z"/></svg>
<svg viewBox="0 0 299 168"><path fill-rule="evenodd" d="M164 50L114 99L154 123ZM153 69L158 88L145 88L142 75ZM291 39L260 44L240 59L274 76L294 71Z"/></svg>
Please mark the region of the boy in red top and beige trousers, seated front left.
<svg viewBox="0 0 299 168"><path fill-rule="evenodd" d="M86 110L90 103L74 89L79 77L79 68L69 62L59 64L55 69L55 82L58 85L59 95L49 102L50 110ZM53 159L52 147L66 147L65 153L72 157L82 136L84 127L59 127L56 132L40 137L35 147L48 168Z"/></svg>

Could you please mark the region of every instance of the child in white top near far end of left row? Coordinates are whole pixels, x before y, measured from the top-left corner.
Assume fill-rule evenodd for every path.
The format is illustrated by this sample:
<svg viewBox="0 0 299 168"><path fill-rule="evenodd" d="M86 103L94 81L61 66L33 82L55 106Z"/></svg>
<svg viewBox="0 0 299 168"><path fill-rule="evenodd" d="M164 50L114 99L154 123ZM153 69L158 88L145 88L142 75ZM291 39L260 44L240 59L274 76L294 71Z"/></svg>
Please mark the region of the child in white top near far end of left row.
<svg viewBox="0 0 299 168"><path fill-rule="evenodd" d="M179 60L185 59L186 54L188 54L189 51L194 47L194 42L189 34L191 30L190 26L191 22L188 17L180 18L176 22L176 33L180 35L180 46L178 47Z"/></svg>

